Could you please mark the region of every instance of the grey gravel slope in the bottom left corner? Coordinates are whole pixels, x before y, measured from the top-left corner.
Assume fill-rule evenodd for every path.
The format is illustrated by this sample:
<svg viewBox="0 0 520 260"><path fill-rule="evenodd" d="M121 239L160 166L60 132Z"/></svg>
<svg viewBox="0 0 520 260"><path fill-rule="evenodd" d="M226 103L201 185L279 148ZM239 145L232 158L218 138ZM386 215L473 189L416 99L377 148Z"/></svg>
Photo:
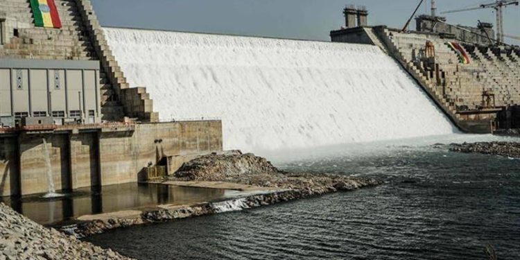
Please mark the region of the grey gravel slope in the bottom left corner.
<svg viewBox="0 0 520 260"><path fill-rule="evenodd" d="M39 225L0 203L0 259L129 259Z"/></svg>

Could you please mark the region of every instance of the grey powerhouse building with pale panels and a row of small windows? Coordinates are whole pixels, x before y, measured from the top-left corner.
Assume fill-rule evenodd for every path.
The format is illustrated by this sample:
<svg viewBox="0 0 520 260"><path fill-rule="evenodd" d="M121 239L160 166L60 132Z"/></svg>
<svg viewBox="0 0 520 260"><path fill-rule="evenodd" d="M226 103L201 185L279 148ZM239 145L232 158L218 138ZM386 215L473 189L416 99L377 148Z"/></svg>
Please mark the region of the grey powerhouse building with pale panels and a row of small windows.
<svg viewBox="0 0 520 260"><path fill-rule="evenodd" d="M98 82L96 61L0 59L0 117L101 123Z"/></svg>

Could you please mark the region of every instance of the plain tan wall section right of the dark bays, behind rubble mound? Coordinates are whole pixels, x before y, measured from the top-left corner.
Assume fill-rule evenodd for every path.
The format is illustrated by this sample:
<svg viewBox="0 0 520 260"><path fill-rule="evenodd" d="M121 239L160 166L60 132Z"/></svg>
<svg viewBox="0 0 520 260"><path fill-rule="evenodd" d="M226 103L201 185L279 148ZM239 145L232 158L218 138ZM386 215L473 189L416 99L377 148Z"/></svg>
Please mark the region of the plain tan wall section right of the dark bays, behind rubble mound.
<svg viewBox="0 0 520 260"><path fill-rule="evenodd" d="M222 150L222 123L195 121L137 125L128 132L103 132L100 139L103 185L136 182L157 159L176 158L176 168L196 155ZM176 168L175 168L176 167Z"/></svg>

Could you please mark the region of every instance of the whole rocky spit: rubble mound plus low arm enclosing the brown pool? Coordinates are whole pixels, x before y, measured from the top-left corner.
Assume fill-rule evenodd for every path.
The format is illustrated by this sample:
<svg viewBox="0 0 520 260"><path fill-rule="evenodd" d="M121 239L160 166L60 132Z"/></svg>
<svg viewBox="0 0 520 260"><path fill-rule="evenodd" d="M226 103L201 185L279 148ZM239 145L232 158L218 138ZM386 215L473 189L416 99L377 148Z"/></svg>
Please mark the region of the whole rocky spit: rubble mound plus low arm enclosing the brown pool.
<svg viewBox="0 0 520 260"><path fill-rule="evenodd" d="M229 200L205 202L198 205L168 206L147 210L132 217L94 220L62 229L78 237L101 234L110 229L157 223L168 220L190 218L226 211L252 209L278 202L309 198L335 191L352 191L363 187L373 187L381 182L372 178L347 177L315 173L288 173L279 171L265 158L240 151L204 155L185 163L168 180L194 182L234 182L266 187L247 196Z"/></svg>

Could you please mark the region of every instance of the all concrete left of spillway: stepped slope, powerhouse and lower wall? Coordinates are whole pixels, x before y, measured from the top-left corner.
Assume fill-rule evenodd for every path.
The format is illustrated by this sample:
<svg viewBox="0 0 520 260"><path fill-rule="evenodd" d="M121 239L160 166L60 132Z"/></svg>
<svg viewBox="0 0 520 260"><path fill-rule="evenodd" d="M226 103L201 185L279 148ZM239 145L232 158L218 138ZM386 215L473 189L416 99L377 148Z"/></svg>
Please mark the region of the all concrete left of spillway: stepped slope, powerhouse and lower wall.
<svg viewBox="0 0 520 260"><path fill-rule="evenodd" d="M154 123L146 88L126 82L90 1L53 1L62 28L36 27L26 0L0 1L0 196L47 191L43 139L62 190L137 182L222 150L220 121Z"/></svg>

